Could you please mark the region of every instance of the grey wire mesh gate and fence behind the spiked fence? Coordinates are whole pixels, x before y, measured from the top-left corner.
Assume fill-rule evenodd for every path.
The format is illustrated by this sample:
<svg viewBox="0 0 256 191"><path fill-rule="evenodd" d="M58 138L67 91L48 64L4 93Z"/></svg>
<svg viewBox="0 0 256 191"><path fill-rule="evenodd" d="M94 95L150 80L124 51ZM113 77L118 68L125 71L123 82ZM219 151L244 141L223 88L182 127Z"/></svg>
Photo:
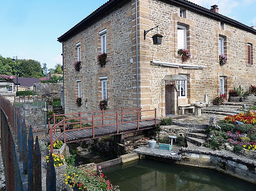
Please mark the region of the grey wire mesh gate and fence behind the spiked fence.
<svg viewBox="0 0 256 191"><path fill-rule="evenodd" d="M46 120L46 99L32 97L19 97L14 100L15 108L19 108L20 114L26 122L27 131L32 127L32 131L45 131Z"/></svg>

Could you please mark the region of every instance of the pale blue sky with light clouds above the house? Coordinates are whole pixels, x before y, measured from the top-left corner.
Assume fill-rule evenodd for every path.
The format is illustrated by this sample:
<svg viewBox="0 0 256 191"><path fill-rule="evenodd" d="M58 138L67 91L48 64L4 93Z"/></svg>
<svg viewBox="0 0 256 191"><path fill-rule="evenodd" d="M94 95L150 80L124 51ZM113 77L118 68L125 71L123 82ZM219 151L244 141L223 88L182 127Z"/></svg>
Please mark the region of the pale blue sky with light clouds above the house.
<svg viewBox="0 0 256 191"><path fill-rule="evenodd" d="M245 25L256 25L256 0L190 0ZM57 38L107 0L0 0L0 54L34 59L48 68L62 64Z"/></svg>

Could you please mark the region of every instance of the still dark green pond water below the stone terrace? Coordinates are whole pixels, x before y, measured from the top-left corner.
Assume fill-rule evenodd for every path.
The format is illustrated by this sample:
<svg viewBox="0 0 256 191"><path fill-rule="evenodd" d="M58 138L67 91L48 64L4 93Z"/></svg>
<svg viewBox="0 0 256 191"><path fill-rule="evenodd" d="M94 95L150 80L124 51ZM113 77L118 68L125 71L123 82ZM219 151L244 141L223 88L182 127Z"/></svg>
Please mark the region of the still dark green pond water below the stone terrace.
<svg viewBox="0 0 256 191"><path fill-rule="evenodd" d="M121 191L256 191L256 185L210 169L136 160L103 169Z"/></svg>

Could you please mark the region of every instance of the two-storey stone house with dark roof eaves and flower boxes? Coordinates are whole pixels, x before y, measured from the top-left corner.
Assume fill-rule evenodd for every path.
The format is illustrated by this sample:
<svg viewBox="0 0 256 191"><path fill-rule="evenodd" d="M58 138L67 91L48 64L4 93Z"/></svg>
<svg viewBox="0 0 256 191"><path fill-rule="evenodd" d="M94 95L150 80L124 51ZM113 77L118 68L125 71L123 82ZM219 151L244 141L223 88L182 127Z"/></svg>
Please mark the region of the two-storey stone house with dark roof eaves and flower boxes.
<svg viewBox="0 0 256 191"><path fill-rule="evenodd" d="M144 39L144 30L152 28ZM153 44L156 32L162 44ZM213 102L233 87L248 90L256 84L255 28L218 14L216 5L109 0L58 41L63 45L66 113L98 110L98 101L107 98L109 109L157 108L162 117L176 114L179 105L204 101L206 93ZM182 62L178 49L187 49L191 57ZM97 60L101 52L107 53L102 67ZM224 65L220 53L228 58ZM81 61L79 71L76 60ZM83 99L80 108L77 97Z"/></svg>

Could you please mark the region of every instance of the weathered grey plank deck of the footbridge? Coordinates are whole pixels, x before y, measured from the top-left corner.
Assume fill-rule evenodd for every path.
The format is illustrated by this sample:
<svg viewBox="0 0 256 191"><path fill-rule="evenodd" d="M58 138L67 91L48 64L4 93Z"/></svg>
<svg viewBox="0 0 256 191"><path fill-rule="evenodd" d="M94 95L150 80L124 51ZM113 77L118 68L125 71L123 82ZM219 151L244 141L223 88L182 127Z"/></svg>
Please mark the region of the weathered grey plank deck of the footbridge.
<svg viewBox="0 0 256 191"><path fill-rule="evenodd" d="M156 120L157 124L160 124L160 120ZM140 130L146 130L150 128L155 128L155 120L144 120L139 122L139 131ZM130 122L130 123L124 123L119 124L119 134L120 133L127 133L127 132L134 132L137 130L137 122ZM61 133L55 133L53 134L53 140L59 137ZM103 127L95 127L94 128L94 138L93 138L93 129L87 128L82 130L75 130L70 131L66 130L66 143L71 142L77 142L77 141L83 141L88 139L95 139L100 137L106 137L111 135L116 135L117 129L116 125L106 125ZM62 134L59 138L59 140L64 141L64 135ZM50 135L47 135L45 139L42 139L43 141L50 143Z"/></svg>

